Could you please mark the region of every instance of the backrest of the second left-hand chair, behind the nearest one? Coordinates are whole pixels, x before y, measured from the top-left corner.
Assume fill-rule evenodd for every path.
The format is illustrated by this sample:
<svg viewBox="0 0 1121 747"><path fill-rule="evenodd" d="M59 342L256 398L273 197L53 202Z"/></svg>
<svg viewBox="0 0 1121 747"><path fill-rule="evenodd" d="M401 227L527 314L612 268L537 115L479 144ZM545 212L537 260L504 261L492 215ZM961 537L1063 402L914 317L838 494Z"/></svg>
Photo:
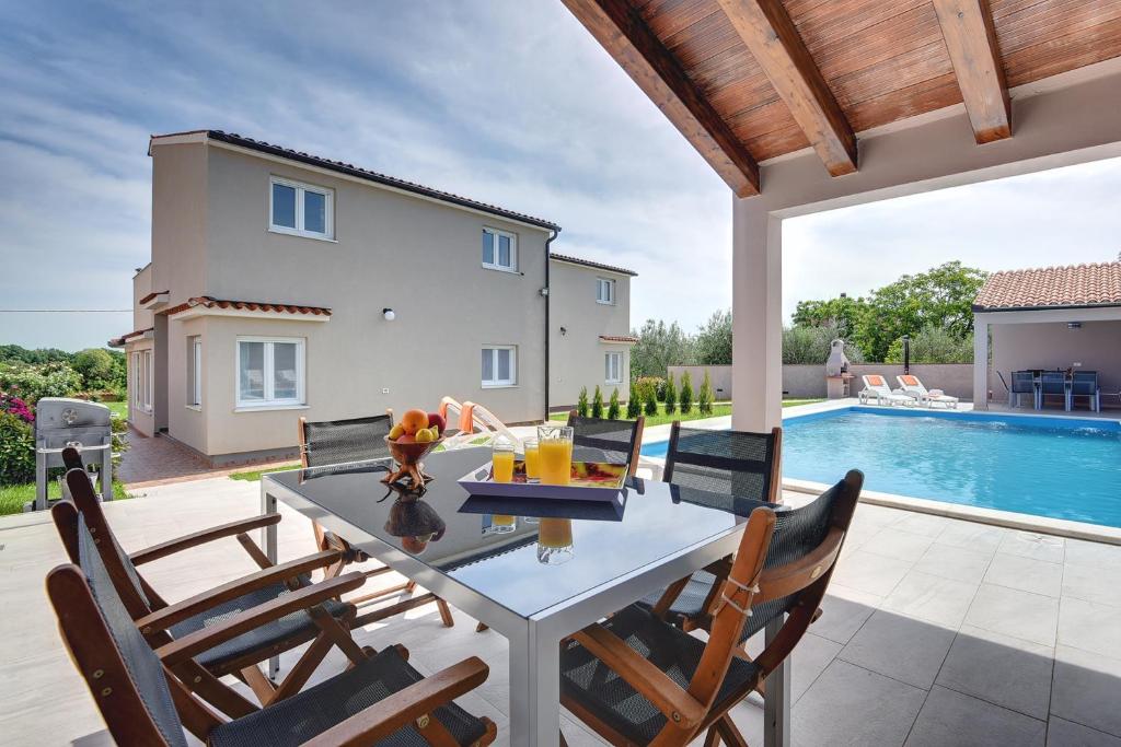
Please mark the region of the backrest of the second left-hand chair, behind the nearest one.
<svg viewBox="0 0 1121 747"><path fill-rule="evenodd" d="M139 619L156 609L166 607L166 603L149 587L140 575L136 566L129 560L128 553L121 548L113 534L113 530L105 521L105 514L101 510L101 498L93 489L93 482L84 469L71 469L65 476L66 487L74 502L74 507L81 514L84 525L94 538L94 547L101 553L101 561L108 569L109 577L117 586L117 592L132 619ZM58 507L62 506L62 507ZM52 519L55 529L62 538L67 550L77 547L75 536L76 523L71 512L63 504L58 504L52 510ZM71 555L73 559L73 554Z"/></svg>

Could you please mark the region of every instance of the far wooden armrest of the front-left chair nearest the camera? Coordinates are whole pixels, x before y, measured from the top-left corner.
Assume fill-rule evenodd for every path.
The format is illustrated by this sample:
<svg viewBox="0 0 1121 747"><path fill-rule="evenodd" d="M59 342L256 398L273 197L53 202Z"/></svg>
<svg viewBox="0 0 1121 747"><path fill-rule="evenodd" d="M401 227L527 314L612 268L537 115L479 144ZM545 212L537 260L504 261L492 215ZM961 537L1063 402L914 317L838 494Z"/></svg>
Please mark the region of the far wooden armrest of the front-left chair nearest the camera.
<svg viewBox="0 0 1121 747"><path fill-rule="evenodd" d="M177 641L163 645L156 650L156 655L163 660L166 666L177 666L204 651L225 643L231 638L237 638L242 633L258 628L266 623L271 623L290 613L314 607L327 599L353 591L364 582L365 575L361 571L354 571L353 573L339 576L328 581L306 586L298 591L277 597L263 605L258 605L243 613L239 613L216 625L195 631Z"/></svg>

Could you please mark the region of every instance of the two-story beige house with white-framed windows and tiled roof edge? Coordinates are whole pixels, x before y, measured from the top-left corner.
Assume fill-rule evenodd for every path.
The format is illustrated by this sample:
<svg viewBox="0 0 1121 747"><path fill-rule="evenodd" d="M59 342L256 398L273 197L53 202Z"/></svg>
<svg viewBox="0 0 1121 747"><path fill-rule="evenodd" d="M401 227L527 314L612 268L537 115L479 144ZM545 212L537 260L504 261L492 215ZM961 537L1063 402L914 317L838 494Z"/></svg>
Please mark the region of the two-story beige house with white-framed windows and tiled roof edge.
<svg viewBox="0 0 1121 747"><path fill-rule="evenodd" d="M508 422L628 396L633 272L549 254L548 221L237 134L155 136L129 419L212 463L296 421L439 398Z"/></svg>

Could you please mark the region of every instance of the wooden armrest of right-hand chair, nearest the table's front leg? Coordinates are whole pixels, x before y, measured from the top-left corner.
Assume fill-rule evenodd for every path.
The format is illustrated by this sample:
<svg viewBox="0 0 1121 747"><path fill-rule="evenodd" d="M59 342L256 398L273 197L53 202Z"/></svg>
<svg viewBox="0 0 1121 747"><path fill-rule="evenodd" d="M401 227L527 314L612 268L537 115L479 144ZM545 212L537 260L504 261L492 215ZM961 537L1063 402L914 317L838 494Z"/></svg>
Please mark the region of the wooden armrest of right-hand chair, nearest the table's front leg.
<svg viewBox="0 0 1121 747"><path fill-rule="evenodd" d="M707 716L704 703L599 623L589 625L572 637L627 680L675 726L696 726Z"/></svg>

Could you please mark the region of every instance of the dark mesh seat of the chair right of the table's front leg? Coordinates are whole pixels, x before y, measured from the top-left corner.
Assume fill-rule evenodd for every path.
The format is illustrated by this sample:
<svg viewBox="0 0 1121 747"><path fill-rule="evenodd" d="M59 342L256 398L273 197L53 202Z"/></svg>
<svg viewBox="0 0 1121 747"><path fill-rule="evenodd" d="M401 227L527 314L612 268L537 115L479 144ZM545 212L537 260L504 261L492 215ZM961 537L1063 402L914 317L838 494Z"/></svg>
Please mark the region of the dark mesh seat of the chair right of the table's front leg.
<svg viewBox="0 0 1121 747"><path fill-rule="evenodd" d="M704 653L704 642L630 606L603 623L643 659L687 689ZM759 676L752 662L733 657L716 702L750 689ZM560 650L560 692L634 744L654 740L666 717L597 656L575 641Z"/></svg>

